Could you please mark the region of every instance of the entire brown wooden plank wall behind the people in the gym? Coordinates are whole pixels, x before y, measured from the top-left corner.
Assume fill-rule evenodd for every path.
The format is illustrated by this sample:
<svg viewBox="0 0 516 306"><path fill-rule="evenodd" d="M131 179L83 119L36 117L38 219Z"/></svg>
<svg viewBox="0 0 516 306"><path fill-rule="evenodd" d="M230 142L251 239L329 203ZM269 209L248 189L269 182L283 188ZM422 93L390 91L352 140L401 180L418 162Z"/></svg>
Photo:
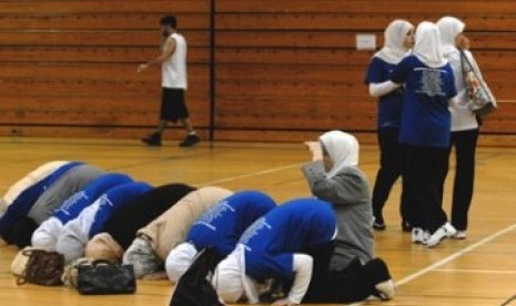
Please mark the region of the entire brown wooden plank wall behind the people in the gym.
<svg viewBox="0 0 516 306"><path fill-rule="evenodd" d="M289 141L330 129L375 131L364 74L373 55L356 33L396 18L462 18L499 100L483 131L516 134L516 6L485 0L215 0L217 140ZM155 123L159 19L176 13L189 42L188 103L210 128L210 0L0 1L0 134L134 136ZM68 132L58 131L69 126ZM95 128L98 126L98 129ZM11 131L11 132L9 132ZM127 132L124 132L127 131ZM375 137L364 137L374 140Z"/></svg>

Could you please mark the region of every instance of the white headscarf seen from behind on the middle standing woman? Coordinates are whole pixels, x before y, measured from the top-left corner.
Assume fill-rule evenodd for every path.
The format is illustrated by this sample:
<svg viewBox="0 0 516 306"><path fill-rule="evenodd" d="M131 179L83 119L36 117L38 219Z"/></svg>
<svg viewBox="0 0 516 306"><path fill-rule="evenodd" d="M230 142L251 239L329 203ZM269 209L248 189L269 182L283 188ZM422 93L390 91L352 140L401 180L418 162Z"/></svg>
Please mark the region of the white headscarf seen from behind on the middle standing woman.
<svg viewBox="0 0 516 306"><path fill-rule="evenodd" d="M439 29L435 23L423 21L417 26L414 55L431 68L441 68L446 64Z"/></svg>

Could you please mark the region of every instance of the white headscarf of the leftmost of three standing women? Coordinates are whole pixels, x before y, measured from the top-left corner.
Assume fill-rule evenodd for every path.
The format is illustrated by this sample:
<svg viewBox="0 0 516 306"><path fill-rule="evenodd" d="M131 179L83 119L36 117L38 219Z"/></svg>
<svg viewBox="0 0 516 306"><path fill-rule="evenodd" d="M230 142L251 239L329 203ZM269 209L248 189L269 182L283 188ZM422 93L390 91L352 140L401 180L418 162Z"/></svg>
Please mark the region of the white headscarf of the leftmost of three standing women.
<svg viewBox="0 0 516 306"><path fill-rule="evenodd" d="M374 57L380 58L387 63L399 63L409 52L409 50L403 45L403 42L405 41L405 37L408 31L412 29L414 29L414 26L402 19L396 19L391 22L384 32L384 47L376 52Z"/></svg>

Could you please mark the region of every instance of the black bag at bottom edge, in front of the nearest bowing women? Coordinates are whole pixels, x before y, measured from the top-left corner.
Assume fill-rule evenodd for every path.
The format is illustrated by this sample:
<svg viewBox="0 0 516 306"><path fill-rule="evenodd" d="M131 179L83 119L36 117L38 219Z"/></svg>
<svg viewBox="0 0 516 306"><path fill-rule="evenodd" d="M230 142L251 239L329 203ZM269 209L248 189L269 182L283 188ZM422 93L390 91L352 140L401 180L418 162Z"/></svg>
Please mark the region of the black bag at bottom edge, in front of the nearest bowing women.
<svg viewBox="0 0 516 306"><path fill-rule="evenodd" d="M213 285L206 279L222 256L214 248L204 248L179 279L170 306L223 306Z"/></svg>

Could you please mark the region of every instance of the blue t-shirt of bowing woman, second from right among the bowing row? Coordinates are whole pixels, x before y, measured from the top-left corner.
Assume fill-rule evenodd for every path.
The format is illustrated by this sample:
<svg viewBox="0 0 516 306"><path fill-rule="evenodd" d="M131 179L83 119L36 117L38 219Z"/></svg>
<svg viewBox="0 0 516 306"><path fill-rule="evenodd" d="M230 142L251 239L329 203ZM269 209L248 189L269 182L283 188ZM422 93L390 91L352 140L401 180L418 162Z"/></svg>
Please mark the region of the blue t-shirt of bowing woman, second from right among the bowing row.
<svg viewBox="0 0 516 306"><path fill-rule="evenodd" d="M235 193L202 214L190 228L186 242L199 251L213 246L221 255L227 256L235 248L242 233L274 207L274 200L264 193Z"/></svg>

